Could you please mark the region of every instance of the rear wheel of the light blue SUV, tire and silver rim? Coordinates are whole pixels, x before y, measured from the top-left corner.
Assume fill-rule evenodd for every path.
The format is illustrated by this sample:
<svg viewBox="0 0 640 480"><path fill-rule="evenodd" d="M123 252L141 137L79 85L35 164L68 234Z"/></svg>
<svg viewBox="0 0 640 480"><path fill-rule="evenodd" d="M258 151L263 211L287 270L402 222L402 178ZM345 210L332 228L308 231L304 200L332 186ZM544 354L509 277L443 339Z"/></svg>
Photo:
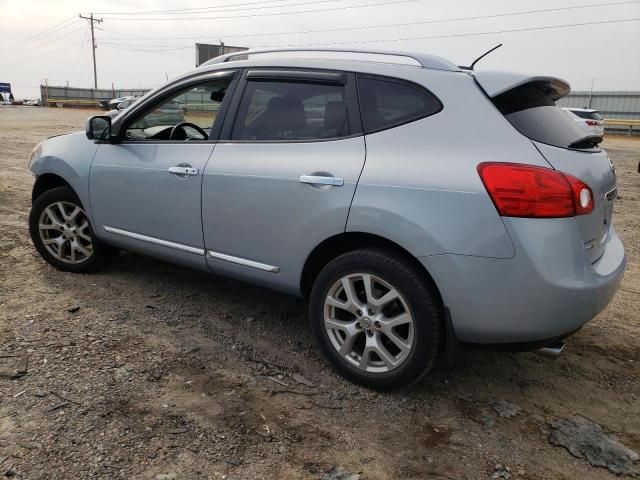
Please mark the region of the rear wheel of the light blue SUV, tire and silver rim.
<svg viewBox="0 0 640 480"><path fill-rule="evenodd" d="M435 286L393 250L355 250L333 259L315 279L309 309L313 334L333 367L371 389L417 382L441 350L443 308Z"/></svg>

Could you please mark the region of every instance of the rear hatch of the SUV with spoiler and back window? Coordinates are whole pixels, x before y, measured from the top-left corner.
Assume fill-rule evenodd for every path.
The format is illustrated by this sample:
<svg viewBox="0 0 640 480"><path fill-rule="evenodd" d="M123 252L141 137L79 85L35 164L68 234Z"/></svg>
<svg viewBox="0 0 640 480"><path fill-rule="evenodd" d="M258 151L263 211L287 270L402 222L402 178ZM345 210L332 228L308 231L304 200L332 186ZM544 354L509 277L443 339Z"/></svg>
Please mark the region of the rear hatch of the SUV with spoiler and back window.
<svg viewBox="0 0 640 480"><path fill-rule="evenodd" d="M602 256L609 235L616 176L601 137L585 133L555 102L569 93L569 84L553 77L504 72L474 72L494 105L521 134L528 137L556 170L585 182L593 191L594 209L575 220L590 262Z"/></svg>

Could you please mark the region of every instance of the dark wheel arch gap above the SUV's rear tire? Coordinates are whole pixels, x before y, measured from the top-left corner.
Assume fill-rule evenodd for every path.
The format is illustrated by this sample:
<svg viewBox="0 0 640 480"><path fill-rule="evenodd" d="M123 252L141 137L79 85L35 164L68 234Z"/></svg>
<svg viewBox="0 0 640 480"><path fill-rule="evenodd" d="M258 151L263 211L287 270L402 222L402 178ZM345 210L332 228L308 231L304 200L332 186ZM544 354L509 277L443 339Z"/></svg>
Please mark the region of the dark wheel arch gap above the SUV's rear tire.
<svg viewBox="0 0 640 480"><path fill-rule="evenodd" d="M429 271L414 255L406 248L388 238L366 232L344 232L329 237L318 244L307 257L302 269L300 276L300 291L302 295L305 298L309 297L313 282L320 273L320 270L335 257L353 250L372 247L392 250L416 267L423 275L424 280L433 287L439 297L440 304L443 305L442 294L440 293L438 285Z"/></svg>

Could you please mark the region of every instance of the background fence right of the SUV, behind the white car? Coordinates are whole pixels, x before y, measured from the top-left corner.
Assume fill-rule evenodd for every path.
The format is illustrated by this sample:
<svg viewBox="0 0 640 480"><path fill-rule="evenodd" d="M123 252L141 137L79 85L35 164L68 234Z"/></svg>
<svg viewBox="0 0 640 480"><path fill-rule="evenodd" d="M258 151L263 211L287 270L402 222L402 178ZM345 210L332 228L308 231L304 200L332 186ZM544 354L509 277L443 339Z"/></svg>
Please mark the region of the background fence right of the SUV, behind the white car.
<svg viewBox="0 0 640 480"><path fill-rule="evenodd" d="M640 92L571 92L558 105L598 110L607 131L640 133Z"/></svg>

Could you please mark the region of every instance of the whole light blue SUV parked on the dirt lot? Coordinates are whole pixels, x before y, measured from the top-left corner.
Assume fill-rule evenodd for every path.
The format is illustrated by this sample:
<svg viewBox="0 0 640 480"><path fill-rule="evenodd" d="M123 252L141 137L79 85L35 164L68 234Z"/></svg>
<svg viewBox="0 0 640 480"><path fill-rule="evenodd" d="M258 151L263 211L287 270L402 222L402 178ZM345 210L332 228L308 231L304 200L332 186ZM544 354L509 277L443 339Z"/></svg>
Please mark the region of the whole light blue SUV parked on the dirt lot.
<svg viewBox="0 0 640 480"><path fill-rule="evenodd" d="M459 343L558 352L626 262L615 168L568 92L423 54L219 57L39 144L31 236L61 270L115 247L307 297L328 359L372 388Z"/></svg>

